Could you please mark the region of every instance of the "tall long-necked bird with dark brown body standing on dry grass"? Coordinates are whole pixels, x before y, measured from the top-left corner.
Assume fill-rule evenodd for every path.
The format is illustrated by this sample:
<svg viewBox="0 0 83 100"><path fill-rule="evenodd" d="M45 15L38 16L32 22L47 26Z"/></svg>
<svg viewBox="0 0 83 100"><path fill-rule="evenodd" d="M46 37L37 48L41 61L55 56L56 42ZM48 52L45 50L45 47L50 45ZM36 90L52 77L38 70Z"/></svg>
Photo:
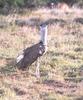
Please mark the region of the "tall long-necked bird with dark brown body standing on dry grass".
<svg viewBox="0 0 83 100"><path fill-rule="evenodd" d="M39 42L24 49L23 52L16 58L16 65L18 66L18 69L22 71L25 71L27 68L29 69L30 65L37 61L36 76L38 78L40 77L39 59L47 52L47 26L48 25L45 23L40 25Z"/></svg>

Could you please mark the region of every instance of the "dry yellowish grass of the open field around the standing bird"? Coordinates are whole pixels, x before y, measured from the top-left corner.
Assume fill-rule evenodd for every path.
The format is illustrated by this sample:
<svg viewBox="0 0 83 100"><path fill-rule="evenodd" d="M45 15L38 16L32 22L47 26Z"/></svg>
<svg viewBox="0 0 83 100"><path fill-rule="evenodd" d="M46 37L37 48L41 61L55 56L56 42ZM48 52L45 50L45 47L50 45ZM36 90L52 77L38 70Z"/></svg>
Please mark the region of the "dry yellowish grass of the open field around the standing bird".
<svg viewBox="0 0 83 100"><path fill-rule="evenodd" d="M83 25L72 22L75 17L81 17L82 12L78 16L76 11L71 13L73 9L68 14L55 10L46 12L47 9L44 12L40 9L16 15L20 19L37 17L66 21L66 24L48 26L48 51L40 58L39 80L35 77L35 63L25 72L14 67L18 53L39 41L38 28L19 27L14 21L0 28L0 100L82 100ZM9 16L0 15L0 20L7 18Z"/></svg>

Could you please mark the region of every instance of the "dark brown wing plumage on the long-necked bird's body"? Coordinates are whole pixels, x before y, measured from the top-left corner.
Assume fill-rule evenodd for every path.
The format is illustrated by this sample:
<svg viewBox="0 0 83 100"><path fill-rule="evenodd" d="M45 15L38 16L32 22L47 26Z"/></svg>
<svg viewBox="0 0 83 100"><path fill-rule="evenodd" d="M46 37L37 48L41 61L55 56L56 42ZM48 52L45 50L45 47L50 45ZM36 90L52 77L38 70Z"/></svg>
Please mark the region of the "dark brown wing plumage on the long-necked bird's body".
<svg viewBox="0 0 83 100"><path fill-rule="evenodd" d="M42 42L39 42L31 47L28 47L23 52L23 58L17 62L17 66L21 70L29 68L40 56L45 52L45 46Z"/></svg>

